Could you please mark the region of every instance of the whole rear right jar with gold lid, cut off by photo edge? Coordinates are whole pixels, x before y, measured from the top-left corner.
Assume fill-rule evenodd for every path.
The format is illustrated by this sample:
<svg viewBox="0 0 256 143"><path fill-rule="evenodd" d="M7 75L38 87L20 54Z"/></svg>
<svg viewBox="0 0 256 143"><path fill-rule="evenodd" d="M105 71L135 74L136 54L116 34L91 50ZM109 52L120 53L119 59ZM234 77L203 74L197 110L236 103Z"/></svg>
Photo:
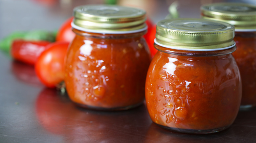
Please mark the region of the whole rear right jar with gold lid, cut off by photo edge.
<svg viewBox="0 0 256 143"><path fill-rule="evenodd" d="M242 78L240 109L256 106L256 6L243 3L215 3L201 7L204 19L235 26L237 50L232 53Z"/></svg>

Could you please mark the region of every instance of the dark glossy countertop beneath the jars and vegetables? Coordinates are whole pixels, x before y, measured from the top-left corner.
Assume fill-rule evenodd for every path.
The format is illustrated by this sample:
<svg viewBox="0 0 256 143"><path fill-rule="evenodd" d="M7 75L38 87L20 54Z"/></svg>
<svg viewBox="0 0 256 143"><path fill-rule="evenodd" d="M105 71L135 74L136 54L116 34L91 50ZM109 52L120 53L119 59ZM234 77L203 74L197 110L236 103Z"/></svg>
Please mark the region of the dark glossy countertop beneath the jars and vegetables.
<svg viewBox="0 0 256 143"><path fill-rule="evenodd" d="M35 1L20 0L20 2L15 2L17 3L13 5L14 8L19 8L20 4L24 4L23 7L28 9L35 6L31 9L36 14L32 15L41 15L41 18L45 17L52 23L42 24L43 20L38 17L38 23L41 24L37 25L37 22L33 21L33 26L26 25L33 18L32 15L23 15L27 19L21 20L17 17L15 9L6 13L6 10L10 10L14 0L0 0L0 38L15 30L29 30L31 28L54 30L63 20L72 15L63 14L63 8L55 7L54 9L38 6ZM96 2L100 3L99 0ZM76 0L66 10L72 11L72 8L79 4L81 1ZM19 9L16 9L16 12L17 10ZM8 14L10 16L7 16ZM184 13L182 14L184 15ZM49 15L51 16L49 17ZM165 17L166 14L163 15ZM158 18L154 20L156 21ZM25 24L10 23L13 19L16 22L25 21ZM239 111L237 119L230 128L219 133L208 135L180 134L167 131L152 123L145 104L131 110L117 112L101 112L80 108L75 106L67 95L61 95L55 89L49 89L40 84L32 66L13 61L10 56L0 52L0 67L0 143L256 142L256 109Z"/></svg>

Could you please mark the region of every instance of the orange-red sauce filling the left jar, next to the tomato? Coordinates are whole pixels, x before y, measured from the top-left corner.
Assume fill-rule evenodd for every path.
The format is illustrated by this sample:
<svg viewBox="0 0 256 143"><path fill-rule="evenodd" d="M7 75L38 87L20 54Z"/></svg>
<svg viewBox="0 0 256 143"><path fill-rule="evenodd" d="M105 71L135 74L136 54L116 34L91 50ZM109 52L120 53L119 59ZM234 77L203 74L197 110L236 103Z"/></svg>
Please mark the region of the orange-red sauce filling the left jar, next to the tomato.
<svg viewBox="0 0 256 143"><path fill-rule="evenodd" d="M141 36L77 33L66 58L65 83L71 100L81 106L125 109L144 100L150 54ZM83 36L82 36L83 35Z"/></svg>

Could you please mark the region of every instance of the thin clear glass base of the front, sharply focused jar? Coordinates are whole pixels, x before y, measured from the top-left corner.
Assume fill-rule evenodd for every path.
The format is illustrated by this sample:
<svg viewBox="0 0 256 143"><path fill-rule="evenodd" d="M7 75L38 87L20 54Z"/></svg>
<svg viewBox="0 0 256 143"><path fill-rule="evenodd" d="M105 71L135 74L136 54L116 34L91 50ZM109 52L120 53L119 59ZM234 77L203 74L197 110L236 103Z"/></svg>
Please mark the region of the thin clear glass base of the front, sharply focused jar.
<svg viewBox="0 0 256 143"><path fill-rule="evenodd" d="M188 133L188 134L210 134L210 133L216 133L216 132L220 132L225 130L226 128L228 128L229 126L225 126L225 127L221 127L221 128L216 128L216 129L209 129L209 130L195 130L195 129L180 129L180 128L172 128L172 127L166 127L163 125L159 125L158 126L167 129L169 131L173 131L173 132L179 132L179 133Z"/></svg>

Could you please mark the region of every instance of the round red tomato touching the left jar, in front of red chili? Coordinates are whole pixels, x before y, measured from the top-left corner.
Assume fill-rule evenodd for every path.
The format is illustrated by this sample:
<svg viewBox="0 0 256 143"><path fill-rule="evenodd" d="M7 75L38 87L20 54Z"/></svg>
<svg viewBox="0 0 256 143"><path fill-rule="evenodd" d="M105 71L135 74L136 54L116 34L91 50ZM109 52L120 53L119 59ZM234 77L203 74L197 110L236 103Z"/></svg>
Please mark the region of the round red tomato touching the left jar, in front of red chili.
<svg viewBox="0 0 256 143"><path fill-rule="evenodd" d="M64 59L68 46L69 42L54 42L38 57L35 72L45 86L53 88L64 80Z"/></svg>

